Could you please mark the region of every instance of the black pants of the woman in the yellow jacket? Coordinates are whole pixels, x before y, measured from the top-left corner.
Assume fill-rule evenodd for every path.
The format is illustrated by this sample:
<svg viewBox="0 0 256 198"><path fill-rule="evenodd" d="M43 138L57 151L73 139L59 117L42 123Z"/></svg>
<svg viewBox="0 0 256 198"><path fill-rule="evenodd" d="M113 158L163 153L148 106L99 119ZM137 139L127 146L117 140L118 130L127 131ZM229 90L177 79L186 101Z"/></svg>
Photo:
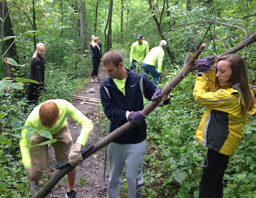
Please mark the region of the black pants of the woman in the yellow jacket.
<svg viewBox="0 0 256 198"><path fill-rule="evenodd" d="M222 198L223 176L227 168L229 155L208 149L199 183L199 198Z"/></svg>

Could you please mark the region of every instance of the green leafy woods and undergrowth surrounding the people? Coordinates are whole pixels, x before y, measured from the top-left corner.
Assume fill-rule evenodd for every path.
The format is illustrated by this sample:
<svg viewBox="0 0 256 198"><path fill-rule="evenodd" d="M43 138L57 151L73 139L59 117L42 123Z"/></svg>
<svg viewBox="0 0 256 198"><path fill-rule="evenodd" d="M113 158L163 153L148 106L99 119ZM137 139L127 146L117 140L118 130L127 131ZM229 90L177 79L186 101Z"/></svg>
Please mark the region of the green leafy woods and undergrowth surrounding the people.
<svg viewBox="0 0 256 198"><path fill-rule="evenodd" d="M0 22L0 56L14 59L18 67L4 63L0 77L27 78L35 45L44 43L48 93L40 100L71 100L68 95L89 82L92 34L101 38L103 55L109 50L121 51L125 67L136 35L142 34L150 49L158 46L161 39L167 40L159 85L163 88L182 69L186 53L195 53L202 43L207 46L199 58L225 53L246 38L255 37L255 13L254 0L4 0L0 2L1 21L6 16ZM24 34L28 31L38 32ZM7 39L9 36L12 38ZM255 42L238 54L246 63L249 80L256 85ZM142 73L140 66L136 71ZM191 72L172 91L172 103L147 116L151 126L147 131L145 197L198 196L205 148L195 142L194 135L204 109L194 101L194 80L195 73ZM15 130L24 125L27 117L23 113L26 90L25 84L19 94L15 90L4 91L0 98L2 197L25 197L28 193L26 173L19 163L20 131ZM255 124L254 115L248 116L244 138L224 178L226 197L255 197Z"/></svg>

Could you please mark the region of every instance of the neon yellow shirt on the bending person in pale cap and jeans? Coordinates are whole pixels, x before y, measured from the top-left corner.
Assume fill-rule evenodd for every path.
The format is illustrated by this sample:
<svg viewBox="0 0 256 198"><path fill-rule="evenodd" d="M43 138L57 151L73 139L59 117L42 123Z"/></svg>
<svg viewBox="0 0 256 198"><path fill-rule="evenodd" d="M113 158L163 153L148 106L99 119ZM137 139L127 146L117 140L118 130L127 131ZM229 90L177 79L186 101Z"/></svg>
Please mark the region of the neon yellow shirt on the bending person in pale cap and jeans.
<svg viewBox="0 0 256 198"><path fill-rule="evenodd" d="M158 65L158 73L161 73L162 70L162 62L163 62L163 56L165 55L165 51L163 51L162 47L157 46L150 50L150 53L148 53L143 60L143 63L148 65L156 66Z"/></svg>

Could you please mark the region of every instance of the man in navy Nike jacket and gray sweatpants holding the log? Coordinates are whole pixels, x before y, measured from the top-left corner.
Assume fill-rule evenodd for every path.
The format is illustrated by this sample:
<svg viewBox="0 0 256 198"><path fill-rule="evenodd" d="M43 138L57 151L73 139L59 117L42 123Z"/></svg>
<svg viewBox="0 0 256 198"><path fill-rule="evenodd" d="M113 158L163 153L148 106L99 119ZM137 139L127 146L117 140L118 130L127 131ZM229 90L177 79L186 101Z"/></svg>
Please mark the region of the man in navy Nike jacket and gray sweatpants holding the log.
<svg viewBox="0 0 256 198"><path fill-rule="evenodd" d="M119 196L125 162L128 196L140 198L147 136L146 116L141 112L144 108L143 96L148 100L156 99L160 96L161 89L155 87L143 75L124 68L123 55L118 51L105 53L102 65L109 76L100 87L103 110L109 118L109 133L127 121L132 121L137 125L108 145L110 172L108 198ZM167 104L166 101L164 103Z"/></svg>

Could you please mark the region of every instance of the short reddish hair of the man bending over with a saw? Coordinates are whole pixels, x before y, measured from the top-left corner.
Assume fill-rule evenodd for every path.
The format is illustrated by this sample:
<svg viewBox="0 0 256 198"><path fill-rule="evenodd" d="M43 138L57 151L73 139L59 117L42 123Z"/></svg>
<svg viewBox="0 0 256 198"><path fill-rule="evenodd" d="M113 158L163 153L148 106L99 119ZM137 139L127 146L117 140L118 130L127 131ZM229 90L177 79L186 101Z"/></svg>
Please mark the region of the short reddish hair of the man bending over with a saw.
<svg viewBox="0 0 256 198"><path fill-rule="evenodd" d="M59 108L55 102L49 101L42 104L39 109L39 121L41 125L52 128L59 119Z"/></svg>

